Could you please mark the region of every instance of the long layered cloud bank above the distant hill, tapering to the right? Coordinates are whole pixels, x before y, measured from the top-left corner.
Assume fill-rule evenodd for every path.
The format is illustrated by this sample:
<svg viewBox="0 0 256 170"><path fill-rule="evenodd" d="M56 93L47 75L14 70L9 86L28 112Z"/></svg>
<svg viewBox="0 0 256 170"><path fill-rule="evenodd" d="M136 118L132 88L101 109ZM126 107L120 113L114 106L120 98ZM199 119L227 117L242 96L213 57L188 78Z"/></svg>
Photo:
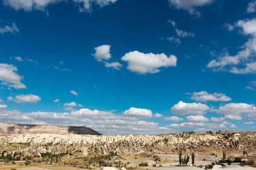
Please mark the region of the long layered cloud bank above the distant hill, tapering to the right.
<svg viewBox="0 0 256 170"><path fill-rule="evenodd" d="M120 114L80 109L71 113L9 111L0 105L1 121L18 124L55 124L60 126L84 126L103 134L163 134L175 133L174 129L159 127L156 122L127 119ZM128 117L129 118L129 117Z"/></svg>

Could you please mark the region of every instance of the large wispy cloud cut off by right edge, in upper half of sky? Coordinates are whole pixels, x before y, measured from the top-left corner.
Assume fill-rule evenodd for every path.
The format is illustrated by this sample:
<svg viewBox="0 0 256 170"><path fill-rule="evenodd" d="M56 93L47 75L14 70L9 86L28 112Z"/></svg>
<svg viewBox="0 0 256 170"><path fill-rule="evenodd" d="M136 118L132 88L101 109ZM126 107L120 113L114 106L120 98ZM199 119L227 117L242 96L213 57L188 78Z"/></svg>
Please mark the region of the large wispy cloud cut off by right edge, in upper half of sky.
<svg viewBox="0 0 256 170"><path fill-rule="evenodd" d="M234 74L256 73L256 19L238 20L234 27L242 28L243 35L250 37L241 46L242 50L235 56L226 53L213 59L207 67L213 71L229 71Z"/></svg>

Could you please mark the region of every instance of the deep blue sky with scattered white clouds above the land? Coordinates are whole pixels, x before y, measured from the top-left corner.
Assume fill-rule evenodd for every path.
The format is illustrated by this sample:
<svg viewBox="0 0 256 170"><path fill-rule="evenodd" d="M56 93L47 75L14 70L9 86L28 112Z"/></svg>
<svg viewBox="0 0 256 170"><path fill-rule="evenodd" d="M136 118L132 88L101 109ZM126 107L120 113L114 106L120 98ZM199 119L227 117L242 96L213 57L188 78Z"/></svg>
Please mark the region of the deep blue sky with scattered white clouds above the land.
<svg viewBox="0 0 256 170"><path fill-rule="evenodd" d="M0 121L255 131L256 1L2 0Z"/></svg>

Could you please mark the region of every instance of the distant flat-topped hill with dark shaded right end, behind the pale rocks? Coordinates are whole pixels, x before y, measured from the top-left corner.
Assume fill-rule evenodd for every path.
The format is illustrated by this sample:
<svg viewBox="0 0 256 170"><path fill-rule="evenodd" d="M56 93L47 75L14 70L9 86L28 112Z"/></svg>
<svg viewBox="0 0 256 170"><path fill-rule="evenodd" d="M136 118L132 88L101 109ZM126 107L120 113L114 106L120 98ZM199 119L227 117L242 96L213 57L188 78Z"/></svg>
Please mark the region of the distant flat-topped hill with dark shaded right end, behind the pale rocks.
<svg viewBox="0 0 256 170"><path fill-rule="evenodd" d="M7 124L0 122L0 133L3 134L90 134L102 135L85 126L56 126L56 125L21 125L21 124Z"/></svg>

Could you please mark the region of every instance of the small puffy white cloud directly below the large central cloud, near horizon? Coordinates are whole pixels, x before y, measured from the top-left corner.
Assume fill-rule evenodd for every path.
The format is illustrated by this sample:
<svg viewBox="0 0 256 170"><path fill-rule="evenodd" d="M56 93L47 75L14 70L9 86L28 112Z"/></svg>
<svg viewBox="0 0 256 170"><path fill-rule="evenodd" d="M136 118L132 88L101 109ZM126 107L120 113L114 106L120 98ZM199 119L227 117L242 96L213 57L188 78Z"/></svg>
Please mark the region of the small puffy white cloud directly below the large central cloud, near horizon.
<svg viewBox="0 0 256 170"><path fill-rule="evenodd" d="M151 118L152 111L148 109L140 109L131 107L129 110L123 112L123 116L136 117L136 118Z"/></svg>

